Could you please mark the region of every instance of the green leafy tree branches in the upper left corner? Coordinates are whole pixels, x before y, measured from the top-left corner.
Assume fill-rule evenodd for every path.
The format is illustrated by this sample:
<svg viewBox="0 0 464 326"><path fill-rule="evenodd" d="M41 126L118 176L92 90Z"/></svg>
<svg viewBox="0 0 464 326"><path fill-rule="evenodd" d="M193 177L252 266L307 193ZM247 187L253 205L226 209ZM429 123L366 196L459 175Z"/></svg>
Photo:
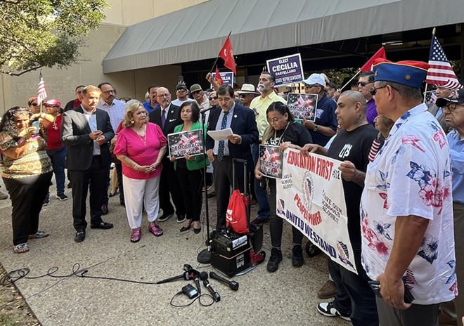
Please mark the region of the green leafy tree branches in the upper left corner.
<svg viewBox="0 0 464 326"><path fill-rule="evenodd" d="M0 0L0 72L19 76L76 63L108 7L105 0Z"/></svg>

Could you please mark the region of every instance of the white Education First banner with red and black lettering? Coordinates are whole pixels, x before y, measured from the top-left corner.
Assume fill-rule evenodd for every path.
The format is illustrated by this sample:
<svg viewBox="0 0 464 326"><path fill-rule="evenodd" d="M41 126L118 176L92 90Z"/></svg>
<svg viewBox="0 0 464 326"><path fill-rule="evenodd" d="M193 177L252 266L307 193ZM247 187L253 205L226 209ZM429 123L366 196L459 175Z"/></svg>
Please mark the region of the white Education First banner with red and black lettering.
<svg viewBox="0 0 464 326"><path fill-rule="evenodd" d="M340 161L317 154L283 153L277 215L298 228L330 259L357 274L348 235Z"/></svg>

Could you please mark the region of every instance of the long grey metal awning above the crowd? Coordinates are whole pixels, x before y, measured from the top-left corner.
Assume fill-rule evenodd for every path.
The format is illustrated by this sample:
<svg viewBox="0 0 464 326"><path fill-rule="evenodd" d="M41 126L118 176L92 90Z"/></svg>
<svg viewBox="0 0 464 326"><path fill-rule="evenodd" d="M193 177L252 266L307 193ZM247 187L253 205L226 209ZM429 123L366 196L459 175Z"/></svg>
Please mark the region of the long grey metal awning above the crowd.
<svg viewBox="0 0 464 326"><path fill-rule="evenodd" d="M216 58L231 31L240 55L451 25L463 13L463 0L210 0L127 27L103 73Z"/></svg>

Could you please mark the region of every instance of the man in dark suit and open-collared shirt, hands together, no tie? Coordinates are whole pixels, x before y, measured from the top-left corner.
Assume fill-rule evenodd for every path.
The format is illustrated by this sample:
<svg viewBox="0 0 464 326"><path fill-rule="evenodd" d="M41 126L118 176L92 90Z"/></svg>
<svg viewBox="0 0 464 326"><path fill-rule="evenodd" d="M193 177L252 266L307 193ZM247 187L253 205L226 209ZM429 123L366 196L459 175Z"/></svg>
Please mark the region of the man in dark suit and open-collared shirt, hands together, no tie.
<svg viewBox="0 0 464 326"><path fill-rule="evenodd" d="M61 140L67 147L66 168L70 171L75 242L85 240L89 185L90 227L112 228L111 223L101 219L101 204L105 178L108 177L106 173L111 163L109 143L115 133L108 113L96 108L100 94L98 87L86 86L82 91L82 105L65 112L61 124Z"/></svg>

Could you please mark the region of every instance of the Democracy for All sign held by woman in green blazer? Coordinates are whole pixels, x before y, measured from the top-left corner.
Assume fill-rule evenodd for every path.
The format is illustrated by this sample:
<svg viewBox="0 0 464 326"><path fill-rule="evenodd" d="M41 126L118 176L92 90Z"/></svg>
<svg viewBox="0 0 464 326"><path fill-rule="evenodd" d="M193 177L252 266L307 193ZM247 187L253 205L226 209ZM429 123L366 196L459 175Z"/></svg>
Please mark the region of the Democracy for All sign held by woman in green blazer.
<svg viewBox="0 0 464 326"><path fill-rule="evenodd" d="M169 157L183 158L183 155L202 155L203 131L191 130L167 135Z"/></svg>

